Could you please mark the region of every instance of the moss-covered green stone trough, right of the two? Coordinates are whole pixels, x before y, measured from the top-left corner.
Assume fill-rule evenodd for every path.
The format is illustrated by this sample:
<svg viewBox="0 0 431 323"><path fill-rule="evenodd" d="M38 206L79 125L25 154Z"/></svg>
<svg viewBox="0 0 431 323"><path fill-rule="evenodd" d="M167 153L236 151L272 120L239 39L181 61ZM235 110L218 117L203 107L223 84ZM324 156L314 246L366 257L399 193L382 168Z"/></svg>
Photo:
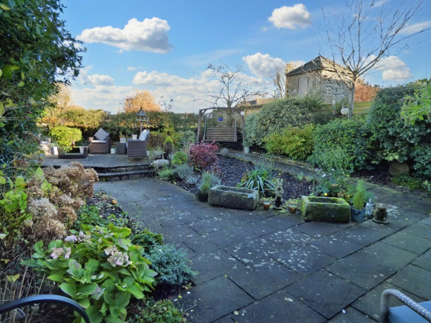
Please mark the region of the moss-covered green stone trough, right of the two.
<svg viewBox="0 0 431 323"><path fill-rule="evenodd" d="M302 196L301 217L310 221L347 223L350 219L350 205L336 197Z"/></svg>

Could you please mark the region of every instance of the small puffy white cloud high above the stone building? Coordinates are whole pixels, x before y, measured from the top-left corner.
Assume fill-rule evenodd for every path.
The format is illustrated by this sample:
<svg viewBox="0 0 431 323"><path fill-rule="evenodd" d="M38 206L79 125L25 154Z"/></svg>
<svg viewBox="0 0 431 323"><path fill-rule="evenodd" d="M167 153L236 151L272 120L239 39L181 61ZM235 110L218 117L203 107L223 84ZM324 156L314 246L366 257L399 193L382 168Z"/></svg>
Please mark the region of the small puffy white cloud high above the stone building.
<svg viewBox="0 0 431 323"><path fill-rule="evenodd" d="M312 25L311 15L306 6L302 3L294 6L282 6L272 11L272 16L268 18L277 28L297 29L307 28Z"/></svg>

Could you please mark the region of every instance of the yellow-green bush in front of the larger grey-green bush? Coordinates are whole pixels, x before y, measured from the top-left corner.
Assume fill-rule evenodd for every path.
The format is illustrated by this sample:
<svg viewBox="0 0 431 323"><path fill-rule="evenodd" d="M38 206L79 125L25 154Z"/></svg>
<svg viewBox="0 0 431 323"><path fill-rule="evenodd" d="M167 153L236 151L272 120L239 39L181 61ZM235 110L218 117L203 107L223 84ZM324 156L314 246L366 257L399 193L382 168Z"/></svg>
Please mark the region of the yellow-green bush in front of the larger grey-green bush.
<svg viewBox="0 0 431 323"><path fill-rule="evenodd" d="M314 146L314 125L287 127L265 137L265 148L270 154L284 154L292 158L305 159Z"/></svg>

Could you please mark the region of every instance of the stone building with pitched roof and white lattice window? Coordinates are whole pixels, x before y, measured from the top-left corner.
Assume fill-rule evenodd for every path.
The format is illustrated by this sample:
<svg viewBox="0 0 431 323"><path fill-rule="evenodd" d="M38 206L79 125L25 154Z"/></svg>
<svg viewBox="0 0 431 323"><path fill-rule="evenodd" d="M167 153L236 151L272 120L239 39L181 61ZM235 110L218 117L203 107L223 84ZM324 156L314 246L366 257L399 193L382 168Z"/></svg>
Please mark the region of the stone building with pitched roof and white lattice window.
<svg viewBox="0 0 431 323"><path fill-rule="evenodd" d="M348 97L351 91L341 81L334 69L339 71L345 69L323 56L317 56L304 65L286 73L287 95L305 96L306 94L319 92L325 102L340 102Z"/></svg>

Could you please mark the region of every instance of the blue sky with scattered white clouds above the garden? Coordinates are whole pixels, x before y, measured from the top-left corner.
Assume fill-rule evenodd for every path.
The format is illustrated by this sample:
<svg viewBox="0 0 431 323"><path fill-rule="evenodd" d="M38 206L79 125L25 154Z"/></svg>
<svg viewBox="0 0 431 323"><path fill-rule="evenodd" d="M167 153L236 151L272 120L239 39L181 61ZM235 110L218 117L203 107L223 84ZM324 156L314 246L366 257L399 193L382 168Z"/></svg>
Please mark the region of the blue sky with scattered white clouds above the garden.
<svg viewBox="0 0 431 323"><path fill-rule="evenodd" d="M364 3L371 1L364 0ZM375 1L392 9L398 0ZM85 41L84 68L70 88L85 109L118 112L135 90L172 97L174 112L208 106L216 86L205 72L209 63L244 65L256 89L273 92L269 75L286 62L331 57L324 42L322 1L137 1L63 0L62 19L72 36ZM346 7L334 1L323 11ZM409 22L431 27L431 3ZM407 26L410 28L409 26ZM408 50L391 52L385 65L365 77L382 86L430 78L430 31L409 38Z"/></svg>

